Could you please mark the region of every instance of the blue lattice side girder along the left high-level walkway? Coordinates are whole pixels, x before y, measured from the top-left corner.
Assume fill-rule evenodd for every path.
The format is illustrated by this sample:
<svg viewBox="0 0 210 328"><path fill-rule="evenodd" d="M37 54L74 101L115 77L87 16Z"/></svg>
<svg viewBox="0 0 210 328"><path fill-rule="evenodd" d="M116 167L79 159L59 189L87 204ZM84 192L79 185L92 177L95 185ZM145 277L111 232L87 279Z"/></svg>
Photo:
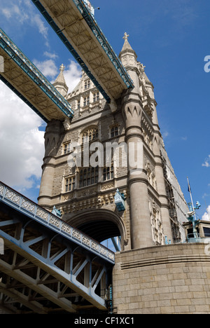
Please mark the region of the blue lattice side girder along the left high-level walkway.
<svg viewBox="0 0 210 328"><path fill-rule="evenodd" d="M56 90L54 86L48 81L41 71L22 53L15 43L3 32L0 28L0 47L9 55L18 66L25 71L27 76L31 78L36 85L43 90L45 95L48 95L50 100L54 102L57 107L69 118L73 117L73 110L71 105L64 97ZM2 79L2 78L1 78Z"/></svg>

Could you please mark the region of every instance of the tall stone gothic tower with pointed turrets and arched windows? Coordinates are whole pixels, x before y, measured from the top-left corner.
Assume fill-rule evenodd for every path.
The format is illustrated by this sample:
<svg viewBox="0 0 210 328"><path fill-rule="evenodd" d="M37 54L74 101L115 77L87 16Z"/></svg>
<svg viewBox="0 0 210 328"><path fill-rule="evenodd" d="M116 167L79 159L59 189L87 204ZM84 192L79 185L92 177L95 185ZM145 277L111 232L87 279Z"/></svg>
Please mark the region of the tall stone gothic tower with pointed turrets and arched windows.
<svg viewBox="0 0 210 328"><path fill-rule="evenodd" d="M120 236L121 250L134 250L164 245L165 236L181 241L187 205L162 141L153 84L127 38L119 57L134 89L115 107L84 72L67 94L62 65L54 85L74 116L46 128L38 203L55 205L62 219L99 242Z"/></svg>

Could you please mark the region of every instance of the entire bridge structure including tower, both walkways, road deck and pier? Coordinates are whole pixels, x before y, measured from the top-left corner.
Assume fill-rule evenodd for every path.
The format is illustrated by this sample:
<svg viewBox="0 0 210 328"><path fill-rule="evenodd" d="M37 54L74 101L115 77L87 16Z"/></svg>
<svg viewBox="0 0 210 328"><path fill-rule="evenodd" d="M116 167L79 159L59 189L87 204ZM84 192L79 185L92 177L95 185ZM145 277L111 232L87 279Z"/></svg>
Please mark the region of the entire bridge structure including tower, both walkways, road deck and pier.
<svg viewBox="0 0 210 328"><path fill-rule="evenodd" d="M62 64L52 85L0 29L0 79L47 123L38 205L0 182L0 310L210 313L209 225L197 221L202 238L188 243L154 86L129 35L117 56L90 1L31 1L83 71L69 91Z"/></svg>

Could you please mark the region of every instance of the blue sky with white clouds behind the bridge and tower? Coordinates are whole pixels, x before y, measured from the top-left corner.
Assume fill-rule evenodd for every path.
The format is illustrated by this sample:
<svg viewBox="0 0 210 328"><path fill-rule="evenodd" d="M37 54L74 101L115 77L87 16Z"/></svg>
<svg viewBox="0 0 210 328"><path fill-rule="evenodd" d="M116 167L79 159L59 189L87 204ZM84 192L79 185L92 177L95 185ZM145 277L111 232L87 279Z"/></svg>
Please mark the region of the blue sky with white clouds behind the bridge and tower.
<svg viewBox="0 0 210 328"><path fill-rule="evenodd" d="M189 177L193 198L202 205L197 214L202 218L209 206L210 215L210 72L204 71L204 57L210 55L210 2L92 0L92 5L100 7L95 18L117 55L124 33L130 35L155 86L161 132L181 189L190 201ZM64 63L69 89L78 83L80 67L31 0L1 0L0 26L50 81ZM44 128L41 119L1 83L0 179L34 200Z"/></svg>

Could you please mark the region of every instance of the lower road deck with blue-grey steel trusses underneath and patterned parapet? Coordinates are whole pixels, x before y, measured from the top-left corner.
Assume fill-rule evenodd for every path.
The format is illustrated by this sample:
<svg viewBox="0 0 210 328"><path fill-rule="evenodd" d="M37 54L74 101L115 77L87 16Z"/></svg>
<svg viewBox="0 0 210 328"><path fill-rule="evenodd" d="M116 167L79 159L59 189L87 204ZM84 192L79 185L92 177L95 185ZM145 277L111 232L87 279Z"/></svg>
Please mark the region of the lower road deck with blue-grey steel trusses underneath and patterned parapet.
<svg viewBox="0 0 210 328"><path fill-rule="evenodd" d="M115 254L2 182L0 241L1 308L107 312Z"/></svg>

